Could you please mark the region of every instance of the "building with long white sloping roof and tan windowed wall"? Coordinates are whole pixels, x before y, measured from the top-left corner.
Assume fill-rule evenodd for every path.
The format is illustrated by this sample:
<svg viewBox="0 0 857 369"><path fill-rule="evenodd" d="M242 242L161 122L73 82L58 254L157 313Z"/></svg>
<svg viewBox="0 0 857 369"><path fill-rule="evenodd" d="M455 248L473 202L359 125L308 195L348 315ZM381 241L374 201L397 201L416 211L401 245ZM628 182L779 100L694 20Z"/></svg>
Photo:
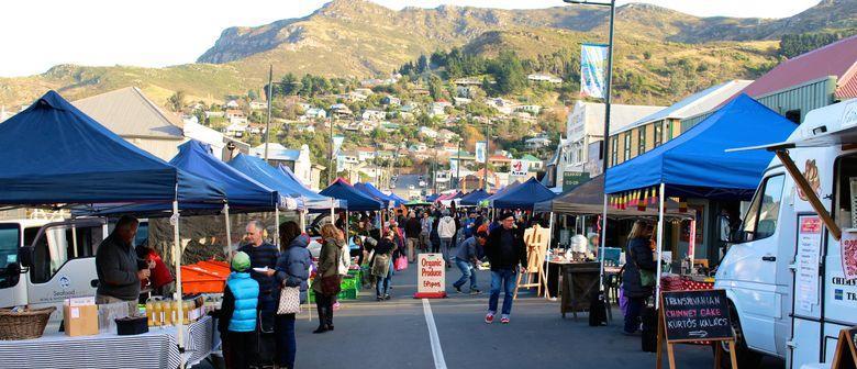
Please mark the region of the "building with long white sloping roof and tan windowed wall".
<svg viewBox="0 0 857 369"><path fill-rule="evenodd" d="M610 166L630 160L681 134L682 121L711 111L753 81L731 80L693 93L622 128L610 130ZM615 153L615 156L613 156Z"/></svg>

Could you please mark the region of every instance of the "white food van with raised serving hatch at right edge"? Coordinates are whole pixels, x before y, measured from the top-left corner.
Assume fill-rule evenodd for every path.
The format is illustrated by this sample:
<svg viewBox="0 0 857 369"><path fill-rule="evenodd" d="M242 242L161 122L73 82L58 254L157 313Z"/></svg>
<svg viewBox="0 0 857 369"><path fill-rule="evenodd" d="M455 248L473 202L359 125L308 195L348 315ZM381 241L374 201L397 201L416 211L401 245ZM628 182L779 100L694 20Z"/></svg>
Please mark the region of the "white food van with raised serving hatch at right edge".
<svg viewBox="0 0 857 369"><path fill-rule="evenodd" d="M857 99L811 111L787 143L767 147L788 149L786 164L803 174L822 209L775 158L716 272L742 368L761 355L784 358L788 369L830 367L839 331L857 325L857 279L844 278L836 230L824 223L830 214L843 233L857 228L857 134L842 135L849 128L857 132Z"/></svg>

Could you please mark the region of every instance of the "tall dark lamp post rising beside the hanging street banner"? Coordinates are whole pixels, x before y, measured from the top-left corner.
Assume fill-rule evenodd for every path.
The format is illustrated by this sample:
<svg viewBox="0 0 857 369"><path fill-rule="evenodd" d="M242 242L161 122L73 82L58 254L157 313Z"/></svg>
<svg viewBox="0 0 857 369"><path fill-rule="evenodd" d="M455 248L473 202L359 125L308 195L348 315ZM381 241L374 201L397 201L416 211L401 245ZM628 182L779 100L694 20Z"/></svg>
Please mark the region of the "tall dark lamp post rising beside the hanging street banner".
<svg viewBox="0 0 857 369"><path fill-rule="evenodd" d="M608 41L608 70L604 77L604 136L603 136L603 145L601 145L601 157L603 158L603 163L601 165L601 175L606 176L606 170L609 166L608 161L608 155L610 154L610 102L611 102L611 83L613 79L613 30L614 30L614 19L616 18L616 0L610 0L610 2L598 2L598 1L588 1L588 0L563 0L565 2L569 3L576 3L576 4L589 4L589 5L597 5L597 7L608 7L610 8L610 36ZM606 178L606 177L604 177ZM663 193L661 193L663 195ZM603 289L604 286L604 245L606 245L606 211L608 211L608 195L606 192L604 192L604 206L601 213L601 239L599 245L601 249L599 249L598 257L601 260L601 272L600 275L600 283L601 288ZM658 245L660 247L660 245Z"/></svg>

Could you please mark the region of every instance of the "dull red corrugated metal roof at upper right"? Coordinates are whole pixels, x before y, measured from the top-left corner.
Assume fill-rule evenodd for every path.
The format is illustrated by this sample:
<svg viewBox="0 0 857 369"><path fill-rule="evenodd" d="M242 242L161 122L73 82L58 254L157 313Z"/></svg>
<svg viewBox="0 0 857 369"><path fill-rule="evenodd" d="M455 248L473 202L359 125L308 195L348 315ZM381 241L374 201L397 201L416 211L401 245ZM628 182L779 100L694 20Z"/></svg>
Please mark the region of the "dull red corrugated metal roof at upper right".
<svg viewBox="0 0 857 369"><path fill-rule="evenodd" d="M857 64L857 35L782 62L742 92L758 98L811 80L836 76L839 86L836 91L838 96L843 87L854 86L855 64Z"/></svg>

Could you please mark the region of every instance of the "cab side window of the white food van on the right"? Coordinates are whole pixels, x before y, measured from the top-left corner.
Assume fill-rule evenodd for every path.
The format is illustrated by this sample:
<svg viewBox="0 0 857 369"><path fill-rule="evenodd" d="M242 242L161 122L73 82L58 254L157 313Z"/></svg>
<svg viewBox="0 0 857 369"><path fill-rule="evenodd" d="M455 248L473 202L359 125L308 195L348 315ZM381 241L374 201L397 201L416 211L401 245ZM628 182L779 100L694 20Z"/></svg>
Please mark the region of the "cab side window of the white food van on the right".
<svg viewBox="0 0 857 369"><path fill-rule="evenodd" d="M759 187L744 217L745 241L767 238L777 231L784 179L784 175L768 177Z"/></svg>

